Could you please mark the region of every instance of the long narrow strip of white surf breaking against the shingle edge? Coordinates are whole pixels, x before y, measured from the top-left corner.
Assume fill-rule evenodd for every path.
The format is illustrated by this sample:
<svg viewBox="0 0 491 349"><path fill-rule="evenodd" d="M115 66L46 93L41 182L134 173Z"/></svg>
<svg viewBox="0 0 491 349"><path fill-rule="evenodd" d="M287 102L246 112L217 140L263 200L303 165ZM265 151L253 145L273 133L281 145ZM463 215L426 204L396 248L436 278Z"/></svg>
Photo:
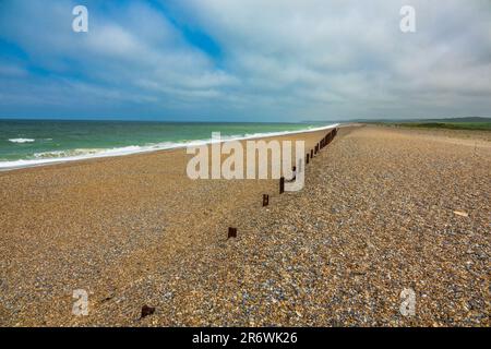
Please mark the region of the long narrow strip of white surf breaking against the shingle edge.
<svg viewBox="0 0 491 349"><path fill-rule="evenodd" d="M219 143L230 142L230 141L249 141L249 140L261 140L261 139L270 139L270 137L297 135L297 134L302 134L302 133L330 130L330 129L334 129L334 128L337 128L340 125L342 125L340 123L333 123L333 124L328 124L328 125L324 125L324 127L304 129L304 130L298 130L298 131L265 132L265 133L256 133L256 134L251 134L251 135L237 135L237 136L230 135L230 136L221 137ZM168 142L161 142L159 144L165 144L165 143L168 143ZM13 171L13 170L26 169L26 168L37 168L37 167L60 165L60 164L73 163L73 161L83 161L83 160L100 159L100 158L112 158L112 157L121 157L121 156L137 155L137 154L148 154L148 153L164 152L164 151L175 151L175 149L185 148L189 146L209 145L213 143L216 143L216 142L214 142L213 140L209 139L209 140L192 140L189 142L175 143L173 145L161 146L161 147L158 147L158 144L144 145L144 146L128 145L128 146L119 147L119 148L104 149L100 153L96 153L94 155L87 154L87 155L82 155L82 156L43 159L43 160L20 159L20 160L13 160L13 161L1 161L0 163L0 173L7 172L7 171ZM130 148L130 147L139 147L139 149L121 152L121 149ZM5 165L5 164L19 164L19 163L21 163L21 165Z"/></svg>

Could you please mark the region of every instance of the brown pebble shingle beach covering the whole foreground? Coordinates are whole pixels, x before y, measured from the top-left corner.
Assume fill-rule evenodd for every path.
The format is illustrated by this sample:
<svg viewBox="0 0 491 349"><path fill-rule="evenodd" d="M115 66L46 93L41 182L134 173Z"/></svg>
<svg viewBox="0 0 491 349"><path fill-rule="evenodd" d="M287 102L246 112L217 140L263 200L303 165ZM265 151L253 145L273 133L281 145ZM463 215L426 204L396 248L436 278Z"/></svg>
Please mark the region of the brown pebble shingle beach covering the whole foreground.
<svg viewBox="0 0 491 349"><path fill-rule="evenodd" d="M179 151L0 173L0 324L489 326L491 143L469 137L342 128L282 195L188 180Z"/></svg>

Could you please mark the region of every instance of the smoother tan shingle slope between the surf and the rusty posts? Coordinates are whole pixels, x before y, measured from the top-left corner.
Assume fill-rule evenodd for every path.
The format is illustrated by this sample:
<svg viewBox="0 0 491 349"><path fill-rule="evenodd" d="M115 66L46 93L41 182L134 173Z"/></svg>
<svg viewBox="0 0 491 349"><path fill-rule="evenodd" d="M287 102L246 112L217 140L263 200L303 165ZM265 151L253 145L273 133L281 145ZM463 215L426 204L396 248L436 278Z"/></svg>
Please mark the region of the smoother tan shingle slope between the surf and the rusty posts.
<svg viewBox="0 0 491 349"><path fill-rule="evenodd" d="M313 148L325 133L274 139ZM221 243L221 221L261 210L263 193L278 198L277 180L191 180L191 157L181 148L0 173L0 325L83 321L72 290L110 298Z"/></svg>

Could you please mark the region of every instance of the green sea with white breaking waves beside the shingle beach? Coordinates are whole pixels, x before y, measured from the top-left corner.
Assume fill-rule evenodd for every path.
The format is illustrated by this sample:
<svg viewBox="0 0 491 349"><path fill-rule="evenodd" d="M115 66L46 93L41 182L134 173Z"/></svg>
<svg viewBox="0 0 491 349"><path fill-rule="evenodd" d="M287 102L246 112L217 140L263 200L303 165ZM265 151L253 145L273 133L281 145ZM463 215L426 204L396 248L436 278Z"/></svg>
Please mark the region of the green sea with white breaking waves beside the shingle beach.
<svg viewBox="0 0 491 349"><path fill-rule="evenodd" d="M327 123L0 120L0 170L121 156L221 140L283 135Z"/></svg>

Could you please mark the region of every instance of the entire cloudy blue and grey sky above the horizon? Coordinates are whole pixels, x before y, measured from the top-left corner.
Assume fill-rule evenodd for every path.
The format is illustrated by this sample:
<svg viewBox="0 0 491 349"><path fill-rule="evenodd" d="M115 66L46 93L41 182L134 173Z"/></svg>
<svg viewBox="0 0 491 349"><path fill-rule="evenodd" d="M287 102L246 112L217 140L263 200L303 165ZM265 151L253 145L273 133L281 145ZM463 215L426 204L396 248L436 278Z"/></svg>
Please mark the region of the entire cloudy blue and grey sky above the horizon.
<svg viewBox="0 0 491 349"><path fill-rule="evenodd" d="M490 117L490 81L491 0L0 0L0 118Z"/></svg>

